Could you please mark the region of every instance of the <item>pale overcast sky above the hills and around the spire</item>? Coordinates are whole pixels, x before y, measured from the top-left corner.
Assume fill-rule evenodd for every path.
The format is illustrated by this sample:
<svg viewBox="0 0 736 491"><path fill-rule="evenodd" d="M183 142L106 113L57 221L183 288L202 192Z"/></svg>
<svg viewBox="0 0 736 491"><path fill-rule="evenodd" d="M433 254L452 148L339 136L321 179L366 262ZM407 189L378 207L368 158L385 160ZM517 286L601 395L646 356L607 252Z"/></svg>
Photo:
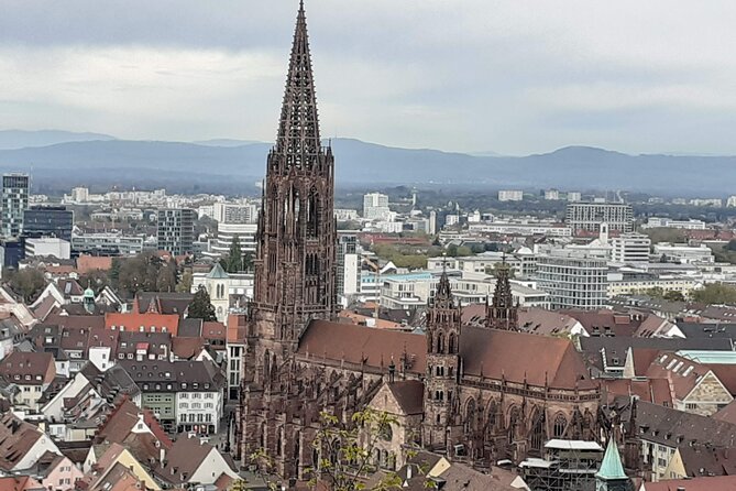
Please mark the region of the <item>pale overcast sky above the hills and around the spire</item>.
<svg viewBox="0 0 736 491"><path fill-rule="evenodd" d="M1 0L0 129L272 141L297 0ZM736 154L736 2L306 0L322 137Z"/></svg>

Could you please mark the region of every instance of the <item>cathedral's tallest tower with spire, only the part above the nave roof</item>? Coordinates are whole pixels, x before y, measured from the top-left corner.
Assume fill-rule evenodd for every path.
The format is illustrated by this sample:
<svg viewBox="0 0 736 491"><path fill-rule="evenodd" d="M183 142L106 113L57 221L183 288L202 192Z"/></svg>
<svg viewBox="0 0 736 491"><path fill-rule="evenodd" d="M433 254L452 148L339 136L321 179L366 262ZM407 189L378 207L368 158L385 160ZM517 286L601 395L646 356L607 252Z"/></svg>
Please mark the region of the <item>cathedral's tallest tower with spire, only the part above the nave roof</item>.
<svg viewBox="0 0 736 491"><path fill-rule="evenodd" d="M334 160L321 146L304 2L259 217L252 335L283 359L312 318L336 314Z"/></svg>

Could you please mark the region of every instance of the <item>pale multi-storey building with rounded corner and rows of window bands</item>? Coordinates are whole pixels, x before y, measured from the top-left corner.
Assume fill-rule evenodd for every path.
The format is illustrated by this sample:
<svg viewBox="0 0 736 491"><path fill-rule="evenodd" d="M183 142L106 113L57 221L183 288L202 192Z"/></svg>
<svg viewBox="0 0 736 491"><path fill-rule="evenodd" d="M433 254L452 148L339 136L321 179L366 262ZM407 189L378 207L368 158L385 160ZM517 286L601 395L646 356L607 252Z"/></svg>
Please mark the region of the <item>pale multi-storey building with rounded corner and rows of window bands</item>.
<svg viewBox="0 0 736 491"><path fill-rule="evenodd" d="M594 309L607 301L607 274L603 259L556 250L537 258L535 277L539 290L549 294L552 309Z"/></svg>

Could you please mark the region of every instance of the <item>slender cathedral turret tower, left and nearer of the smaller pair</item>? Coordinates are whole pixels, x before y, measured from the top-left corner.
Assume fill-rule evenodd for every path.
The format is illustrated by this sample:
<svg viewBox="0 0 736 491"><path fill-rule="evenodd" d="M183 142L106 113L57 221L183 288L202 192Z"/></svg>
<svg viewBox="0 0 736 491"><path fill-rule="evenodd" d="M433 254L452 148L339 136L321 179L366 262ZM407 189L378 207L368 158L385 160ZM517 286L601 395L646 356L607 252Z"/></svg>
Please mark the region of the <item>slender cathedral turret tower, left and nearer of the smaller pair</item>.
<svg viewBox="0 0 736 491"><path fill-rule="evenodd" d="M447 449L457 426L460 378L460 326L462 309L452 299L450 280L442 271L437 294L427 310L427 372L425 380L425 421L422 445Z"/></svg>

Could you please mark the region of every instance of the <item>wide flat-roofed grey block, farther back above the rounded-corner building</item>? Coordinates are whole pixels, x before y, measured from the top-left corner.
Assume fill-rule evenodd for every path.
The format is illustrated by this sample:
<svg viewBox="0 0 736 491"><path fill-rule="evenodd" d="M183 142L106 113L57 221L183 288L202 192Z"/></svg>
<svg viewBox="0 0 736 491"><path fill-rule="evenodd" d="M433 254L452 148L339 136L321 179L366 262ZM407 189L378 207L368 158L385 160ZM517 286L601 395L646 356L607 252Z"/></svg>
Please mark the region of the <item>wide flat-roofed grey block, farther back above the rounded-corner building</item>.
<svg viewBox="0 0 736 491"><path fill-rule="evenodd" d="M601 223L611 231L634 231L634 209L622 203L570 203L567 225L574 232L597 232Z"/></svg>

